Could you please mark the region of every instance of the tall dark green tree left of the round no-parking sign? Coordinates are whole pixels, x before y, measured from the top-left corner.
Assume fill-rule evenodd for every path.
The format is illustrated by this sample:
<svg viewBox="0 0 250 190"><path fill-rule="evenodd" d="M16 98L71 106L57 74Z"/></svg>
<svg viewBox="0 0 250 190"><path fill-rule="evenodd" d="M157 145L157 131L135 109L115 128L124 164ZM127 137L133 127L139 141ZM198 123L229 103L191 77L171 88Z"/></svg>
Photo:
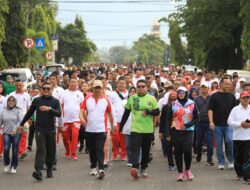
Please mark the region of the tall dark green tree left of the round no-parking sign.
<svg viewBox="0 0 250 190"><path fill-rule="evenodd" d="M15 66L27 60L27 51L23 46L26 30L24 3L9 0L8 5L9 13L6 15L7 24L5 26L6 40L2 42L2 49L8 65Z"/></svg>

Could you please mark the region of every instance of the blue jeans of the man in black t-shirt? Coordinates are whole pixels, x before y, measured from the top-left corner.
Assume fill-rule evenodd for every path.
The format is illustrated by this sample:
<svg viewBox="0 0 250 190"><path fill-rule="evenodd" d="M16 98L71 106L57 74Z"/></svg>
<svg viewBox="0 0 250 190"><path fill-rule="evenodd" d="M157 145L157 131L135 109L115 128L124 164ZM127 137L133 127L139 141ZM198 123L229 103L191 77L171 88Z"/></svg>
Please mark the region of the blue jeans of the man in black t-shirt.
<svg viewBox="0 0 250 190"><path fill-rule="evenodd" d="M229 163L233 163L233 128L230 126L215 126L216 156L220 165L225 164L223 153L223 139L226 143L226 156Z"/></svg>

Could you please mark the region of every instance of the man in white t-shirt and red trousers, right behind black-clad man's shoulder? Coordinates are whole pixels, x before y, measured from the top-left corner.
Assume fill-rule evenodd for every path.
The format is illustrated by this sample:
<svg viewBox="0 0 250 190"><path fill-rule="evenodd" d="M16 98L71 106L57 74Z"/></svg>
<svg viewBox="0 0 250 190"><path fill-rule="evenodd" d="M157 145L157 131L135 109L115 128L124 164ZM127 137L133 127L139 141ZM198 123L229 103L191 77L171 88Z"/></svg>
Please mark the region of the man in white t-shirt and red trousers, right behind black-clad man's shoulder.
<svg viewBox="0 0 250 190"><path fill-rule="evenodd" d="M66 148L65 156L71 156L72 160L77 160L76 150L78 135L81 127L80 123L80 104L84 97L81 91L77 90L77 79L71 78L69 88L63 92L63 143Z"/></svg>

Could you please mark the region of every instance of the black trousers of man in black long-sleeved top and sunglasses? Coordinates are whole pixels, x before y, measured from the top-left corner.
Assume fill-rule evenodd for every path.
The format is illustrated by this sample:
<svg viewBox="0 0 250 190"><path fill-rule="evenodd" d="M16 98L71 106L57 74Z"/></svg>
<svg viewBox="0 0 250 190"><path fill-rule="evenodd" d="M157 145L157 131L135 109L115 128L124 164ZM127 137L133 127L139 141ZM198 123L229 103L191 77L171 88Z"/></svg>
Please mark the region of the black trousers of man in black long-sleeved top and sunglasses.
<svg viewBox="0 0 250 190"><path fill-rule="evenodd" d="M56 159L56 132L36 131L35 169L43 168L44 163L48 169L52 168Z"/></svg>

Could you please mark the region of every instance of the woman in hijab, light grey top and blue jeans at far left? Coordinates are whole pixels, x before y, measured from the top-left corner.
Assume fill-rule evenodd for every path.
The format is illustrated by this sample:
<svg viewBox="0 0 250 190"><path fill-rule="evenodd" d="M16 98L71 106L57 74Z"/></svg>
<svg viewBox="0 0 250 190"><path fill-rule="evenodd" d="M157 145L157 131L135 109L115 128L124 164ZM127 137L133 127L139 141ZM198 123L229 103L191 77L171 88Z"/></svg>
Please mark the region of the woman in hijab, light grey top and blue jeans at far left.
<svg viewBox="0 0 250 190"><path fill-rule="evenodd" d="M18 166L18 145L21 138L19 125L23 118L22 110L16 107L16 99L10 96L7 107L0 114L0 126L3 127L4 136L4 172L16 173ZM12 147L12 160L10 161L10 148Z"/></svg>

